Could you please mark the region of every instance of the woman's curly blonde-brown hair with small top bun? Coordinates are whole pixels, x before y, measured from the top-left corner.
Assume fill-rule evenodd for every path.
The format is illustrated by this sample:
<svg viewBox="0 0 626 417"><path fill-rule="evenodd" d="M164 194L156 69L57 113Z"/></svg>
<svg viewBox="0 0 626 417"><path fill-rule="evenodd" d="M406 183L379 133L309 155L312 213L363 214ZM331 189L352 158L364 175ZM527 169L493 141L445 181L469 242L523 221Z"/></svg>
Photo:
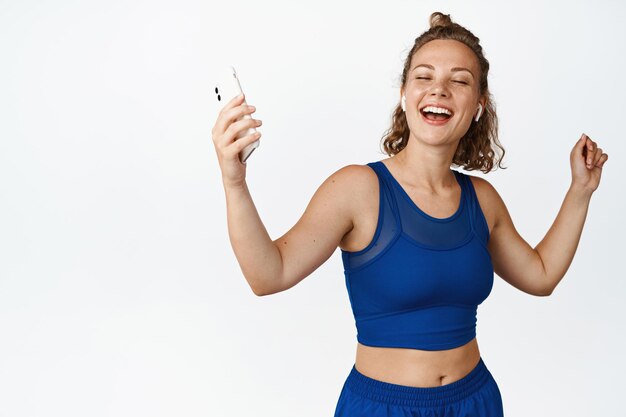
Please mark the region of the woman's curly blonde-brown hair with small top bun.
<svg viewBox="0 0 626 417"><path fill-rule="evenodd" d="M413 54L427 42L435 39L452 39L467 45L478 58L480 66L479 94L486 98L485 109L478 122L472 121L468 131L461 138L456 149L452 164L472 171L479 169L485 174L492 171L494 165L506 169L501 165L505 150L498 141L498 116L493 97L489 92L487 75L489 74L489 61L483 55L480 39L463 26L452 22L450 15L435 12L430 15L430 29L415 39L413 48L406 57L404 70L402 71L402 86L406 84L407 74L411 66ZM391 127L383 135L382 141L384 152L387 155L395 155L404 149L409 141L409 126L406 114L398 104L392 114ZM502 154L497 156L492 145L501 149ZM497 158L497 161L496 161Z"/></svg>

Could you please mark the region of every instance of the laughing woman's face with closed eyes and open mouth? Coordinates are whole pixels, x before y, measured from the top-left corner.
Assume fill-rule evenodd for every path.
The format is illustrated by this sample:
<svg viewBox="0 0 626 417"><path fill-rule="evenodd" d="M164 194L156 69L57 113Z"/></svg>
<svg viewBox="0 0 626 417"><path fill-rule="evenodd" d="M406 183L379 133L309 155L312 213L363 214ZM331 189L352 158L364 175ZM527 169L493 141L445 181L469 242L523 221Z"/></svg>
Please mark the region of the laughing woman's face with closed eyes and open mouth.
<svg viewBox="0 0 626 417"><path fill-rule="evenodd" d="M464 69L460 69L464 68ZM411 135L428 142L456 142L473 121L479 97L479 64L474 52L455 40L434 40L413 55L402 94ZM450 110L446 120L428 120L422 110L439 105ZM441 116L431 116L441 118ZM482 117L482 116L481 116Z"/></svg>

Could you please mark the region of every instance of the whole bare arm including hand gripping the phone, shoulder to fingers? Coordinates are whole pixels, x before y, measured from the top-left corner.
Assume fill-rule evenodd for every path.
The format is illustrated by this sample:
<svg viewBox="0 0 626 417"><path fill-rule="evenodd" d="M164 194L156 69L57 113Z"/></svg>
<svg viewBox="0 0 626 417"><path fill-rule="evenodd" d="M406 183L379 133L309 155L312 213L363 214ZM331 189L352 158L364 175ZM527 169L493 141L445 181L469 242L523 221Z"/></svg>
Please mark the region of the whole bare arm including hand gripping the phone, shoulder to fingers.
<svg viewBox="0 0 626 417"><path fill-rule="evenodd" d="M269 295L296 285L324 263L352 229L354 177L360 166L347 166L319 187L301 219L287 233L272 241L256 210L245 181L246 164L238 153L257 137L237 134L254 119L234 122L254 109L235 98L220 112L213 128L213 142L226 193L228 234L241 271L256 295Z"/></svg>

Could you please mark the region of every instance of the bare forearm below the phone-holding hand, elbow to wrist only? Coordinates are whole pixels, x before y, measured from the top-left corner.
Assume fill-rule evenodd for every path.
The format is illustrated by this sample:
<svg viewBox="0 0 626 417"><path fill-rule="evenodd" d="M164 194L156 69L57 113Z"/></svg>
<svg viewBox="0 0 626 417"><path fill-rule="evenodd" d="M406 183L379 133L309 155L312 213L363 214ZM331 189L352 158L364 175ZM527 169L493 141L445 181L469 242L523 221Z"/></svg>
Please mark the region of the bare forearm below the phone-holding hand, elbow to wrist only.
<svg viewBox="0 0 626 417"><path fill-rule="evenodd" d="M280 252L256 210L247 184L224 185L228 235L244 277L255 294L282 269Z"/></svg>

